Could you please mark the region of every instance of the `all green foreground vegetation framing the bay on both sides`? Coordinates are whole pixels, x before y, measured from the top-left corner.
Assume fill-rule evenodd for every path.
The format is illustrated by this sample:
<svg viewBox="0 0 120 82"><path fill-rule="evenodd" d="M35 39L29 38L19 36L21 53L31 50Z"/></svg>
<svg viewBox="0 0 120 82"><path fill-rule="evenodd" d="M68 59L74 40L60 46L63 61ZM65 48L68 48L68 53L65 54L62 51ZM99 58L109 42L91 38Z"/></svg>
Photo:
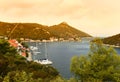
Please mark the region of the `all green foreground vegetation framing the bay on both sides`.
<svg viewBox="0 0 120 82"><path fill-rule="evenodd" d="M99 39L87 55L72 58L70 69L75 77L66 80L53 67L27 61L0 40L0 82L120 82L120 56Z"/></svg>

